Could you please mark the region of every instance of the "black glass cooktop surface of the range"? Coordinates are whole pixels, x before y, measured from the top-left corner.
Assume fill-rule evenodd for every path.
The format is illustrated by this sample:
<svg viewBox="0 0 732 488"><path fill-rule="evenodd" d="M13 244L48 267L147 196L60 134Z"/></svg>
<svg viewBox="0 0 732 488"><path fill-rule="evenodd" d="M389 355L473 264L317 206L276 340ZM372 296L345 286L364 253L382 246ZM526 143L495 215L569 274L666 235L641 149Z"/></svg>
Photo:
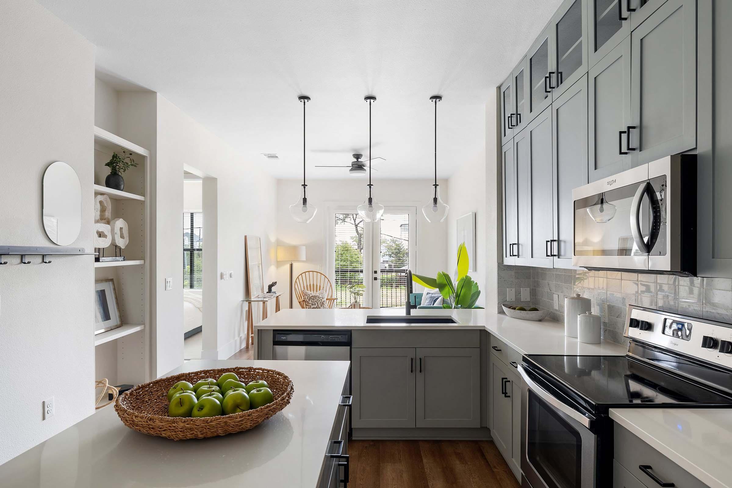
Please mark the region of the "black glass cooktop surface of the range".
<svg viewBox="0 0 732 488"><path fill-rule="evenodd" d="M650 361L732 391L732 375L675 356L655 354ZM632 356L526 356L530 371L589 410L618 407L732 407L732 394L701 386L644 364ZM536 366L533 366L532 363ZM548 374L547 374L548 373ZM701 376L703 375L703 376ZM569 388L567 388L569 387Z"/></svg>

